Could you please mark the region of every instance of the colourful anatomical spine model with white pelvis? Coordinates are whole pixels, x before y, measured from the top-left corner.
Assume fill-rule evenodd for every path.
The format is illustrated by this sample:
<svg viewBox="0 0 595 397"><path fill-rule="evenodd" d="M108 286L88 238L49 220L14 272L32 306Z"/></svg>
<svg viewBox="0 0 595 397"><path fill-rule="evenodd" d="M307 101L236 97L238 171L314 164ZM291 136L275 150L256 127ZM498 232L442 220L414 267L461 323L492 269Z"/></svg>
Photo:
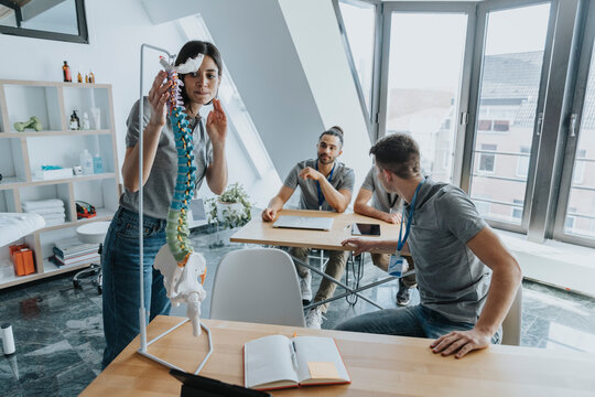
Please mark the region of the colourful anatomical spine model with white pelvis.
<svg viewBox="0 0 595 397"><path fill-rule="evenodd" d="M167 73L167 81L172 82L167 115L177 149L177 179L167 212L165 228L167 245L159 250L154 267L163 275L167 298L172 304L174 307L181 302L187 304L186 315L192 321L194 336L198 336L201 334L201 303L206 297L202 285L205 281L206 261L201 254L194 251L188 239L187 211L194 195L196 167L194 165L192 130L188 128L181 96L181 87L184 83L177 77L177 73L196 72L203 63L203 54L188 58L180 66L170 65L163 57L160 63Z"/></svg>

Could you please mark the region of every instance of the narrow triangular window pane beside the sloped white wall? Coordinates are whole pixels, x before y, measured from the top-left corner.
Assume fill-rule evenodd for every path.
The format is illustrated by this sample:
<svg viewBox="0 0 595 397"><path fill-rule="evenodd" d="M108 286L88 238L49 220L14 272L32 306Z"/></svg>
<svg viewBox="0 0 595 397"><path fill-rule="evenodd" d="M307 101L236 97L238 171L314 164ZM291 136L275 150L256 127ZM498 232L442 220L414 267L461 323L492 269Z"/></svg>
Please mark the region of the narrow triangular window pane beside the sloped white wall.
<svg viewBox="0 0 595 397"><path fill-rule="evenodd" d="M376 6L339 0L340 17L368 115L371 115Z"/></svg>

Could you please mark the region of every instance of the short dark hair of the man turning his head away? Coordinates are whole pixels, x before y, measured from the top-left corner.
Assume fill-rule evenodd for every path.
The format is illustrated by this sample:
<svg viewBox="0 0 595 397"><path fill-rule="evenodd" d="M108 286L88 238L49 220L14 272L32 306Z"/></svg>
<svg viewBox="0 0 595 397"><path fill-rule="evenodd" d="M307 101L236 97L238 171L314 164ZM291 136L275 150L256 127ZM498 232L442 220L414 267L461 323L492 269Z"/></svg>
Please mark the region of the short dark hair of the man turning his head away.
<svg viewBox="0 0 595 397"><path fill-rule="evenodd" d="M370 148L376 164L397 176L411 179L420 174L420 147L407 133L391 133Z"/></svg>

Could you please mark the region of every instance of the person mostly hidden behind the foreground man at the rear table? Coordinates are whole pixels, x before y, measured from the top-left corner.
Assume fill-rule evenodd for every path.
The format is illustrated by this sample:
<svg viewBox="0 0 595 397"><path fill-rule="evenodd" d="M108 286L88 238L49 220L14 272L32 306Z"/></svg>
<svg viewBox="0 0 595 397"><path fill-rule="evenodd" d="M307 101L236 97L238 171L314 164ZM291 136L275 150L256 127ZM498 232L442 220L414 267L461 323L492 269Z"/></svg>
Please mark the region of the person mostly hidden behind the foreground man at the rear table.
<svg viewBox="0 0 595 397"><path fill-rule="evenodd" d="M371 205L368 204L370 198L372 201ZM354 212L394 224L401 222L401 197L399 197L397 193L389 193L385 190L380 181L378 181L376 168L372 167L359 189L359 193L354 203ZM385 271L388 270L390 260L389 254L371 253L371 258L374 265ZM411 256L405 256L405 259L409 264L409 270L413 269L414 265ZM416 286L418 281L415 280L415 273L400 278L399 292L397 292L396 299L397 304L408 305L411 297L411 289Z"/></svg>

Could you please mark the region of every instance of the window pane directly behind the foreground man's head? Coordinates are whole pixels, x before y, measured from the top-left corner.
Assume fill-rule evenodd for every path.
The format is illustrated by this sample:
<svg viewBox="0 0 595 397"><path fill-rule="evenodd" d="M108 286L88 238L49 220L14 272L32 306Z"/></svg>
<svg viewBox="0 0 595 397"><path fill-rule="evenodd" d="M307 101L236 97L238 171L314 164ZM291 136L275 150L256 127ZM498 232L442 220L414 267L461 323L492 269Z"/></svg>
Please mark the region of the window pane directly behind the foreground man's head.
<svg viewBox="0 0 595 397"><path fill-rule="evenodd" d="M401 11L397 4L385 18L390 46L380 133L411 133L424 172L452 182L467 14Z"/></svg>

